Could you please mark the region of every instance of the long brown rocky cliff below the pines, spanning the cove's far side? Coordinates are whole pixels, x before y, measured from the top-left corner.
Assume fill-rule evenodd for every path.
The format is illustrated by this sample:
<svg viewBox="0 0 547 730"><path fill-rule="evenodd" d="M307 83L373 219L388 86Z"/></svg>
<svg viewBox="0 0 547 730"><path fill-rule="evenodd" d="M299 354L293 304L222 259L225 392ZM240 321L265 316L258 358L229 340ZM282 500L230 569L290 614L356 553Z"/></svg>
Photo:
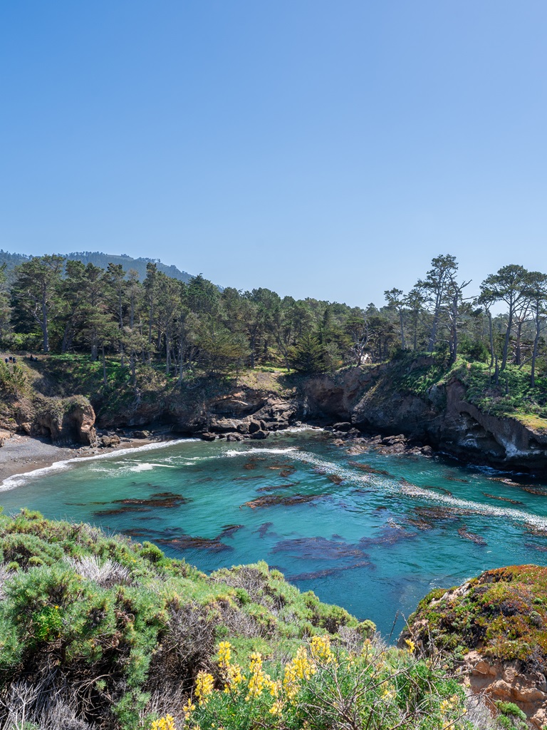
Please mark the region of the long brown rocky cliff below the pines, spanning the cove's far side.
<svg viewBox="0 0 547 730"><path fill-rule="evenodd" d="M25 396L0 402L0 429L92 445L96 428L160 427L241 440L263 439L300 421L344 421L362 433L403 435L413 447L433 447L464 461L547 469L547 421L486 412L473 403L466 372L465 366L463 372L443 372L435 358L420 356L333 376L249 372L230 382L203 378L182 388L157 379L136 391L127 386L93 391L78 373L69 379L55 372L52 360L39 370L28 368L31 388Z"/></svg>

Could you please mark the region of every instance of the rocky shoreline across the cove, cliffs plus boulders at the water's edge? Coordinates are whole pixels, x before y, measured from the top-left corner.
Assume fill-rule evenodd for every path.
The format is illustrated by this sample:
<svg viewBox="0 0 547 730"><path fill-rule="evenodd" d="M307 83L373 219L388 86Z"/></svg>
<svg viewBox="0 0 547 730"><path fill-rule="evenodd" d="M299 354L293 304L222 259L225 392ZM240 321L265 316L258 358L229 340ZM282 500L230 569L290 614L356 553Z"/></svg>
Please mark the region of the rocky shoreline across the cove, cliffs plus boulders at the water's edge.
<svg viewBox="0 0 547 730"><path fill-rule="evenodd" d="M423 364L416 361L409 369ZM482 412L470 403L457 378L419 395L410 392L395 366L354 367L332 376L292 380L279 374L247 374L230 384L205 384L201 390L150 391L115 410L93 401L97 415L82 395L36 395L14 402L9 418L0 418L0 446L13 434L90 450L119 447L124 439L147 439L150 434L239 442L309 424L329 430L341 442L351 441L350 448L373 447L385 454L444 453L467 464L545 477L547 428L540 421ZM0 462L0 475L1 466Z"/></svg>

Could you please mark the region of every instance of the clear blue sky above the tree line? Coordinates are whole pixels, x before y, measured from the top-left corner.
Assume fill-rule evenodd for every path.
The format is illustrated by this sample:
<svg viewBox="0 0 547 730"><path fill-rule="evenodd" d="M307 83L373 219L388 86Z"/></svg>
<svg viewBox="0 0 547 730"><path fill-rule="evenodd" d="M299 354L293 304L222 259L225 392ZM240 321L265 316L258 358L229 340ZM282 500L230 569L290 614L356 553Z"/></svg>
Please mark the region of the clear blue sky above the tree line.
<svg viewBox="0 0 547 730"><path fill-rule="evenodd" d="M0 248L354 305L545 272L546 38L545 0L4 0Z"/></svg>

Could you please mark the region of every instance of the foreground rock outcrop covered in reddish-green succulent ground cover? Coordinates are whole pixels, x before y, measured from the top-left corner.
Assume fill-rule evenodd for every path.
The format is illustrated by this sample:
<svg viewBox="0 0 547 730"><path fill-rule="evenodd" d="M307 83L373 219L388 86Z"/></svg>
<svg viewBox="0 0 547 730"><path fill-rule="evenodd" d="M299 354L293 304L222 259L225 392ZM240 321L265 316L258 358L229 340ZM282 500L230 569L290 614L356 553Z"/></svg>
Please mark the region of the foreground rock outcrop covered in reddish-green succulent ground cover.
<svg viewBox="0 0 547 730"><path fill-rule="evenodd" d="M540 729L547 721L547 568L484 572L420 602L400 639L453 656L470 690L514 702Z"/></svg>

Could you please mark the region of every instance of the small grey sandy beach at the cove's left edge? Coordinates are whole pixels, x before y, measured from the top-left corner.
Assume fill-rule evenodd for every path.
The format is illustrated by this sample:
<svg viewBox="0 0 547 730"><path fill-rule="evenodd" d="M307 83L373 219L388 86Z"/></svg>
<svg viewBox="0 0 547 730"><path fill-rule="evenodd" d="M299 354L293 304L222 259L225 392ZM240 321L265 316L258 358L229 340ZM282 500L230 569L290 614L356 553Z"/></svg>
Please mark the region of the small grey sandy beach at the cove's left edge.
<svg viewBox="0 0 547 730"><path fill-rule="evenodd" d="M55 446L47 439L34 439L30 436L15 434L15 436L7 439L4 446L0 447L0 485L8 477L34 472L35 469L44 469L46 466L55 464L56 461L65 461L69 458L85 458L86 456L96 456L98 453L109 453L126 448L145 446L155 440L123 439L115 447L99 449L91 446Z"/></svg>

